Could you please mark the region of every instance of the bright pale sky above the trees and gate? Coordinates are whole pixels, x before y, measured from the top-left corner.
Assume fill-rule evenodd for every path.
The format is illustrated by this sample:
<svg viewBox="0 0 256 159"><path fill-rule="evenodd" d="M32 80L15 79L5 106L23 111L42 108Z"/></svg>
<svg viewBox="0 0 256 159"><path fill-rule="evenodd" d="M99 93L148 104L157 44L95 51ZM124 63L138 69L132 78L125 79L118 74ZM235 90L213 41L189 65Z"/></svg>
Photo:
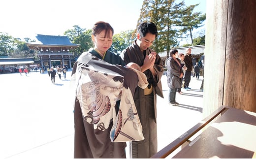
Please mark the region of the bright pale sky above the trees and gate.
<svg viewBox="0 0 256 159"><path fill-rule="evenodd" d="M176 0L181 1L181 0ZM136 29L143 0L0 0L0 32L35 39L36 34L64 35L74 25L92 29L97 21L108 22L114 34ZM205 13L206 0L194 11Z"/></svg>

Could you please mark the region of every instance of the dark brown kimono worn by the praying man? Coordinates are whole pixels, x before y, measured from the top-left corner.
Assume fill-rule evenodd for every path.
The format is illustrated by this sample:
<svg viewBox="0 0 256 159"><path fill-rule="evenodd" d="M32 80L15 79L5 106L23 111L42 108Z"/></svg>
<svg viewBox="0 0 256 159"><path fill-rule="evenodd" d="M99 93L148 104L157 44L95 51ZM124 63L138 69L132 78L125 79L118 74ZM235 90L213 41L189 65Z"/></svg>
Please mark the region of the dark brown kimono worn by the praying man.
<svg viewBox="0 0 256 159"><path fill-rule="evenodd" d="M135 40L131 46L121 53L121 58L126 63L133 62L142 66L145 56L149 55L151 52L153 52L153 50L148 48L142 53ZM146 89L137 87L133 96L145 139L142 141L132 141L132 158L150 158L157 153L158 149L156 121L157 95L163 98L161 86L163 65L159 55L157 55L154 68L157 76L153 77L151 71L149 69L146 70L144 73L149 85Z"/></svg>

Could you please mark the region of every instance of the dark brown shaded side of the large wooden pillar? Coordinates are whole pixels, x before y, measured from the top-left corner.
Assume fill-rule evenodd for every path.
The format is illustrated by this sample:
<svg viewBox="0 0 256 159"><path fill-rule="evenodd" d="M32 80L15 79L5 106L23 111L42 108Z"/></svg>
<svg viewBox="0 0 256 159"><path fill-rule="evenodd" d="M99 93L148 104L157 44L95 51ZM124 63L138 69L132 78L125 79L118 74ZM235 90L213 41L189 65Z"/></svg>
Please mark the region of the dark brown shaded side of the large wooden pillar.
<svg viewBox="0 0 256 159"><path fill-rule="evenodd" d="M256 112L256 0L229 0L224 102Z"/></svg>

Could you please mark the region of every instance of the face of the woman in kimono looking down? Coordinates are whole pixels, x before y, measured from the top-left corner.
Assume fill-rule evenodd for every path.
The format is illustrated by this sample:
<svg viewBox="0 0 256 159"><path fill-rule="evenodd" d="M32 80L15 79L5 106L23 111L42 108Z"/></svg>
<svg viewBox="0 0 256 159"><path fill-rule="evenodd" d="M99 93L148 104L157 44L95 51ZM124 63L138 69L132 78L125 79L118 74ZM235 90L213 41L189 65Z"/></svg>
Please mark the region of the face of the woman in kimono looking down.
<svg viewBox="0 0 256 159"><path fill-rule="evenodd" d="M95 44L95 48L98 49L100 53L105 53L112 45L113 33L110 31L108 37L105 37L105 30L96 34L96 36L92 35L92 40Z"/></svg>

